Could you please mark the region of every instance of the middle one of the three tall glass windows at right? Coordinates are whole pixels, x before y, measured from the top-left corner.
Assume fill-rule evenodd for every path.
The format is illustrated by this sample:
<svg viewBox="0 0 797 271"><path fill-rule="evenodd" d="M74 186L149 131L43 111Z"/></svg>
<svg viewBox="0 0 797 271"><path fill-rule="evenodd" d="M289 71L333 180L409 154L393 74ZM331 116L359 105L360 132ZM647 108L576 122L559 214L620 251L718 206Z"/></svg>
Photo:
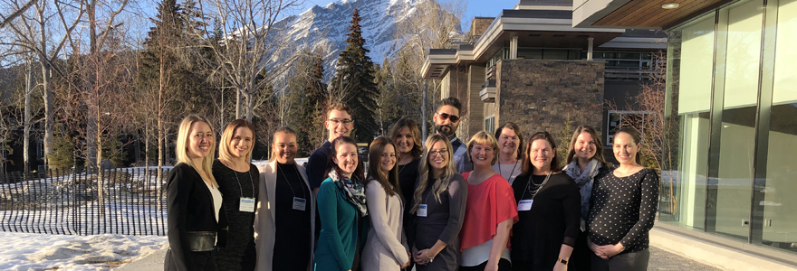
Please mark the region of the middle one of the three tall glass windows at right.
<svg viewBox="0 0 797 271"><path fill-rule="evenodd" d="M717 29L727 41L717 44L717 74L725 69L722 126L716 175L715 232L747 240L750 232L751 195L755 150L755 117L761 60L763 1L743 1L720 10ZM723 88L723 89L720 89ZM714 132L714 131L713 131ZM748 200L744 200L748 199Z"/></svg>

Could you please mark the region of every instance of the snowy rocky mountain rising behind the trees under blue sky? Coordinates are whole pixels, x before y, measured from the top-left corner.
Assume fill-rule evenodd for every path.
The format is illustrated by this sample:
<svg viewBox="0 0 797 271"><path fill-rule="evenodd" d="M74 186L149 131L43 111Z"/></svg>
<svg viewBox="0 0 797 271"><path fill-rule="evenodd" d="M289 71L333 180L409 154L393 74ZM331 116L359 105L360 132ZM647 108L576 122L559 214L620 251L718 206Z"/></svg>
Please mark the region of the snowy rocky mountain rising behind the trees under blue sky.
<svg viewBox="0 0 797 271"><path fill-rule="evenodd" d="M339 0L324 7L314 5L302 14L285 17L275 26L292 37L293 52L322 51L328 80L341 51L346 49L346 34L355 8L362 17L362 37L371 61L381 64L385 58L394 57L403 45L403 39L396 35L397 25L415 14L415 7L422 1Z"/></svg>

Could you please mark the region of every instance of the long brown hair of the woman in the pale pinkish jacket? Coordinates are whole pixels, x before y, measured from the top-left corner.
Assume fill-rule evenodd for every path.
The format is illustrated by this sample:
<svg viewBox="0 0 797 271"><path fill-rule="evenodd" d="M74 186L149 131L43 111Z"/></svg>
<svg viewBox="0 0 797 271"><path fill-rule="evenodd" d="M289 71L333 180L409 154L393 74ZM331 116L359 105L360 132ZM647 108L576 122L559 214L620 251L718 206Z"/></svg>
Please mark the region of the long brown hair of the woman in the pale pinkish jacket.
<svg viewBox="0 0 797 271"><path fill-rule="evenodd" d="M399 199L404 201L404 195L401 194L401 189L399 189L399 155L396 155L396 164L393 165L389 172L382 171L381 166L379 166L382 152L385 151L385 147L388 145L393 146L394 152L398 150L396 145L385 136L379 136L370 143L370 148L368 149L368 179L379 182L388 196L399 195Z"/></svg>

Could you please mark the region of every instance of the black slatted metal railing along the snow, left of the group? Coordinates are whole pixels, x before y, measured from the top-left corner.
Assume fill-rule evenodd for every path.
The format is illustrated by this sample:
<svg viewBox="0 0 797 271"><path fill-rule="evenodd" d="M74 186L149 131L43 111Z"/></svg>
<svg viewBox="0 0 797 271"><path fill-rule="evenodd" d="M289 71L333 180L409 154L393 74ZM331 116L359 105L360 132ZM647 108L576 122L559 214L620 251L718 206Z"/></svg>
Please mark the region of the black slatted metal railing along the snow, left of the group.
<svg viewBox="0 0 797 271"><path fill-rule="evenodd" d="M0 230L165 236L168 169L161 180L151 167L5 173L0 178Z"/></svg>

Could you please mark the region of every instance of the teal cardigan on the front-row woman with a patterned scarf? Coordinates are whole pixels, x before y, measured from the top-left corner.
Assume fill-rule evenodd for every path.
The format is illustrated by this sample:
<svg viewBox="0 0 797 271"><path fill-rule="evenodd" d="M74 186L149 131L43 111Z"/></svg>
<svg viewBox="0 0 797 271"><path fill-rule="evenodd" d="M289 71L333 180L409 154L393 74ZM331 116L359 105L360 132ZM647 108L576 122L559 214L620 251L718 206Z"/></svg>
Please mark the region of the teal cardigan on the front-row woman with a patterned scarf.
<svg viewBox="0 0 797 271"><path fill-rule="evenodd" d="M321 216L321 234L315 248L313 270L350 270L357 245L360 210L343 199L331 178L321 183L316 199Z"/></svg>

